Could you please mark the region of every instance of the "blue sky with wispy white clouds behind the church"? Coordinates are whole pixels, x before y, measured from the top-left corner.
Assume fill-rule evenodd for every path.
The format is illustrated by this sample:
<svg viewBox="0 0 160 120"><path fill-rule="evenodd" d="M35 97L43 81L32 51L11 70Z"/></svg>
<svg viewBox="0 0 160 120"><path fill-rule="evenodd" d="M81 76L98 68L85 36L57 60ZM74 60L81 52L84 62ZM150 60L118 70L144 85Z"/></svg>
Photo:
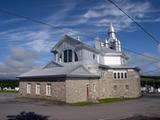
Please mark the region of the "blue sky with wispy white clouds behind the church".
<svg viewBox="0 0 160 120"><path fill-rule="evenodd" d="M114 0L128 15L160 41L159 0ZM107 39L109 23L116 29L128 64L141 73L160 74L160 45L107 0L0 0L0 9L43 21L52 27L0 11L0 78L12 78L53 59L51 48L65 34L94 46Z"/></svg>

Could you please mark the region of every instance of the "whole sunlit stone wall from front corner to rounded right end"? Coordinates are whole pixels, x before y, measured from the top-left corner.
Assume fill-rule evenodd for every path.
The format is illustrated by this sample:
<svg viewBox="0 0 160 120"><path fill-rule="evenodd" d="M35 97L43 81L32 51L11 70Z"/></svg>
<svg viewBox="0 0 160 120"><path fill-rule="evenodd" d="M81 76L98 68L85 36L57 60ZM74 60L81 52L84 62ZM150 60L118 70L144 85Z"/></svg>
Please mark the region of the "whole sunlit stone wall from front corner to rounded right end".
<svg viewBox="0 0 160 120"><path fill-rule="evenodd" d="M114 79L112 70L102 72L101 79L66 80L66 101L73 103L102 98L136 98L141 95L139 74L134 69L127 70L126 79Z"/></svg>

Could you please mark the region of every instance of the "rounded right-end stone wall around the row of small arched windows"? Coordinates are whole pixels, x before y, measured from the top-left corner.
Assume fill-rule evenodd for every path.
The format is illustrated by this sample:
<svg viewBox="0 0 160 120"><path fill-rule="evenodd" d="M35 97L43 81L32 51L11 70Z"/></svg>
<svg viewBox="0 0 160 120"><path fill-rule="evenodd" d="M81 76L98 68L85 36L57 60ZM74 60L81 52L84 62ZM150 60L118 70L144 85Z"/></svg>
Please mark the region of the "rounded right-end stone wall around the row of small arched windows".
<svg viewBox="0 0 160 120"><path fill-rule="evenodd" d="M113 71L107 70L104 79L101 79L101 93L105 89L104 95L100 98L115 98L115 97L139 97L140 94L140 76L134 69L127 70L126 79L114 79Z"/></svg>

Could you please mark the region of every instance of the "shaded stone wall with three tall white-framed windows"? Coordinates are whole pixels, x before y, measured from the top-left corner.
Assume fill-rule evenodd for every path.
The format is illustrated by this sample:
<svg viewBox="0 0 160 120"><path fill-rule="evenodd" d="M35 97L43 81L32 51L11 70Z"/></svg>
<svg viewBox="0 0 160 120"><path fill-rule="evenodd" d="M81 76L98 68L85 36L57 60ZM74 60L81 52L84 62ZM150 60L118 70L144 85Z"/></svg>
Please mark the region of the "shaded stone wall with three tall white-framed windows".
<svg viewBox="0 0 160 120"><path fill-rule="evenodd" d="M27 84L31 84L31 94L27 94ZM36 84L40 84L40 95L36 95ZM51 96L46 96L46 85L51 84ZM39 81L20 81L19 94L22 96L33 96L51 98L54 100L66 100L65 81L39 82Z"/></svg>

